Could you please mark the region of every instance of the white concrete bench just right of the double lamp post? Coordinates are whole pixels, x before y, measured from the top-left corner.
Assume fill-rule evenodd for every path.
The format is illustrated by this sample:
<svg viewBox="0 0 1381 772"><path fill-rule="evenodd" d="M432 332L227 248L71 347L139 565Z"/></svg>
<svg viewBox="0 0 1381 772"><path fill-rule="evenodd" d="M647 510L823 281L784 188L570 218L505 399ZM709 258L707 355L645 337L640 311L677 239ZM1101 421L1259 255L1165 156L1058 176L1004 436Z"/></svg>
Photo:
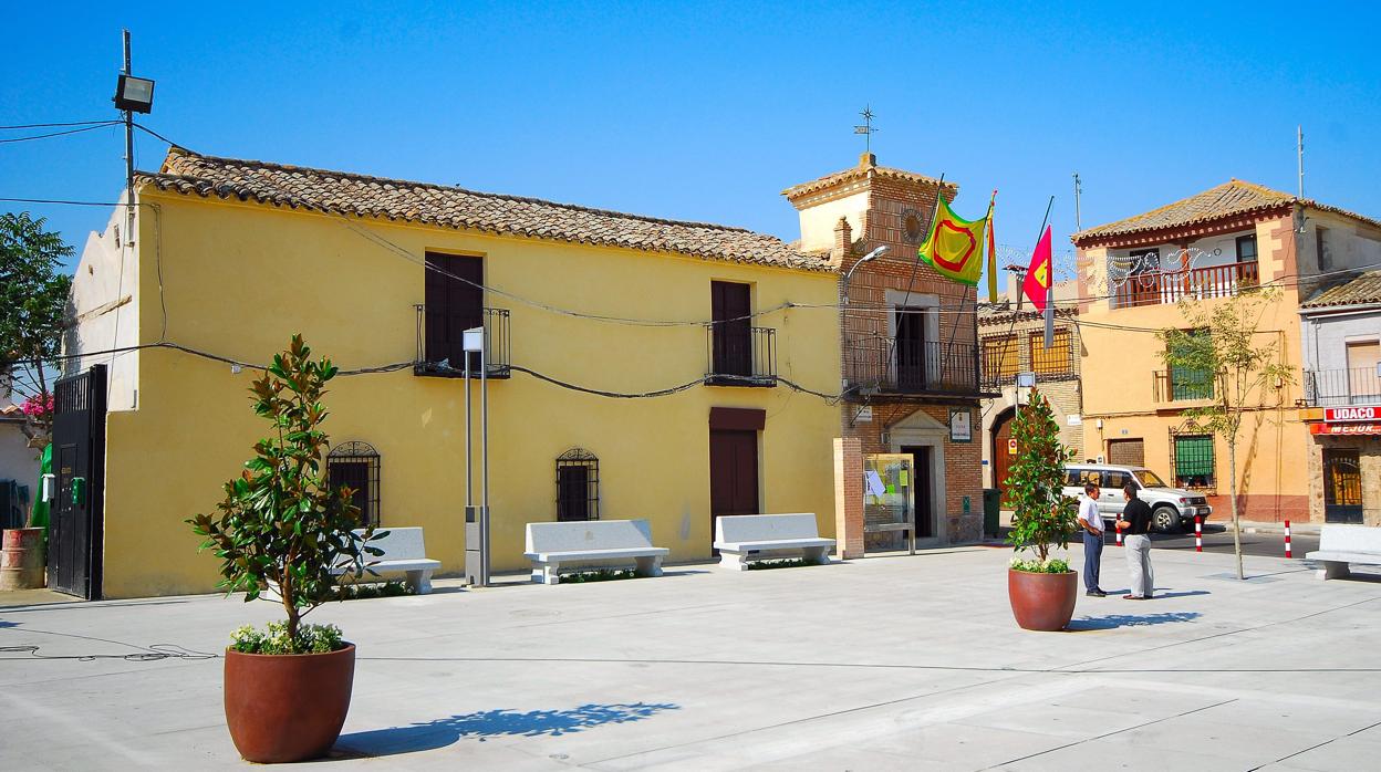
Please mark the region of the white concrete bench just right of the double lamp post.
<svg viewBox="0 0 1381 772"><path fill-rule="evenodd" d="M568 521L528 523L532 580L561 581L561 566L569 563L619 563L632 561L638 576L661 576L666 547L652 546L648 521Z"/></svg>

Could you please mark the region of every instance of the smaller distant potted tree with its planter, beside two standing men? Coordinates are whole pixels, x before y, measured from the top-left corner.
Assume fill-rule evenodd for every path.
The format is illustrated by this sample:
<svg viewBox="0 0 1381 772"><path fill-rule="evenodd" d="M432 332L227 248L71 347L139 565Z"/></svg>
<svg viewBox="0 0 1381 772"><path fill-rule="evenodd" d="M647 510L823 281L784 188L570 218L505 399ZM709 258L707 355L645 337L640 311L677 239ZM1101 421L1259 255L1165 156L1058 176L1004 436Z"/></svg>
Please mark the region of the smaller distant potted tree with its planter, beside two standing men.
<svg viewBox="0 0 1381 772"><path fill-rule="evenodd" d="M1063 630L1074 616L1079 575L1051 552L1068 548L1077 530L1076 503L1062 490L1072 452L1061 445L1059 424L1040 391L1032 388L1030 405L1019 409L1012 439L1016 460L1005 481L1014 508L1008 543L1016 551L1007 570L1012 615L1026 630ZM1023 551L1034 552L1034 559L1023 559Z"/></svg>

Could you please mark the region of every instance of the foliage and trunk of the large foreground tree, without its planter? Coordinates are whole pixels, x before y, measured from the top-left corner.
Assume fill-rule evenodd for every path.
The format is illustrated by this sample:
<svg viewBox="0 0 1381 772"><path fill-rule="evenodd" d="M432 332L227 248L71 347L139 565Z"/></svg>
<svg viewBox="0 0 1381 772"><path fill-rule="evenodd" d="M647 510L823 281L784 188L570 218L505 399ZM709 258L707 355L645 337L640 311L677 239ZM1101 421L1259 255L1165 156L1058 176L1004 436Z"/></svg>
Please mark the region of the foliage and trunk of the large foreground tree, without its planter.
<svg viewBox="0 0 1381 772"><path fill-rule="evenodd" d="M272 423L273 434L254 445L254 459L225 483L220 514L186 521L206 537L202 548L221 558L220 587L244 592L246 602L262 597L283 605L289 653L313 649L318 631L304 628L301 619L340 598L333 569L366 570L365 555L383 554L367 543L387 536L376 536L373 526L356 534L354 492L333 490L323 476L327 436L320 425L327 412L320 399L337 369L325 358L313 362L311 354L302 337L293 336L289 349L254 381L254 413Z"/></svg>

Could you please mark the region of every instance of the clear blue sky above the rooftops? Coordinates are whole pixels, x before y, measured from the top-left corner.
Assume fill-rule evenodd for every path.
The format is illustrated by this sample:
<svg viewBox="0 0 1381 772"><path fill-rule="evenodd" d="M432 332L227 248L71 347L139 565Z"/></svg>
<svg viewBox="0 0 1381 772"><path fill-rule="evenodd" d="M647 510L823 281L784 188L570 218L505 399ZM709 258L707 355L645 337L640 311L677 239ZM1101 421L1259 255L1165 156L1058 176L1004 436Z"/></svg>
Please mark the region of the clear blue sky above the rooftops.
<svg viewBox="0 0 1381 772"><path fill-rule="evenodd" d="M998 242L1056 244L1230 177L1381 217L1381 12L1275 3L23 3L0 124L115 117L120 29L151 127L195 151L798 236L779 192L856 162L957 181ZM196 4L203 6L203 4ZM1001 6L1000 10L997 7ZM0 131L3 138L25 133ZM166 145L138 138L138 166ZM0 145L0 196L115 200L123 137ZM104 209L44 215L77 249Z"/></svg>

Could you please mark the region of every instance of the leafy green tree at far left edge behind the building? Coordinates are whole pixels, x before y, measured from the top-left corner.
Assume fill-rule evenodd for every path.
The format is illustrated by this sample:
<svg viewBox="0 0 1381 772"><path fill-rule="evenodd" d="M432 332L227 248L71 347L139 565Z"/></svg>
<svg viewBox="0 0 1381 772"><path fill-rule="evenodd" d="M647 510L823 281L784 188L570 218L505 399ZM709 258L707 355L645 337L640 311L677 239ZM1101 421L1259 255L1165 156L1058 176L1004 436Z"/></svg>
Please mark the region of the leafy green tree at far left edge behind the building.
<svg viewBox="0 0 1381 772"><path fill-rule="evenodd" d="M0 377L14 394L44 409L28 413L25 434L47 445L52 432L52 377L61 370L64 319L72 276L62 261L75 254L46 221L29 213L0 215Z"/></svg>

